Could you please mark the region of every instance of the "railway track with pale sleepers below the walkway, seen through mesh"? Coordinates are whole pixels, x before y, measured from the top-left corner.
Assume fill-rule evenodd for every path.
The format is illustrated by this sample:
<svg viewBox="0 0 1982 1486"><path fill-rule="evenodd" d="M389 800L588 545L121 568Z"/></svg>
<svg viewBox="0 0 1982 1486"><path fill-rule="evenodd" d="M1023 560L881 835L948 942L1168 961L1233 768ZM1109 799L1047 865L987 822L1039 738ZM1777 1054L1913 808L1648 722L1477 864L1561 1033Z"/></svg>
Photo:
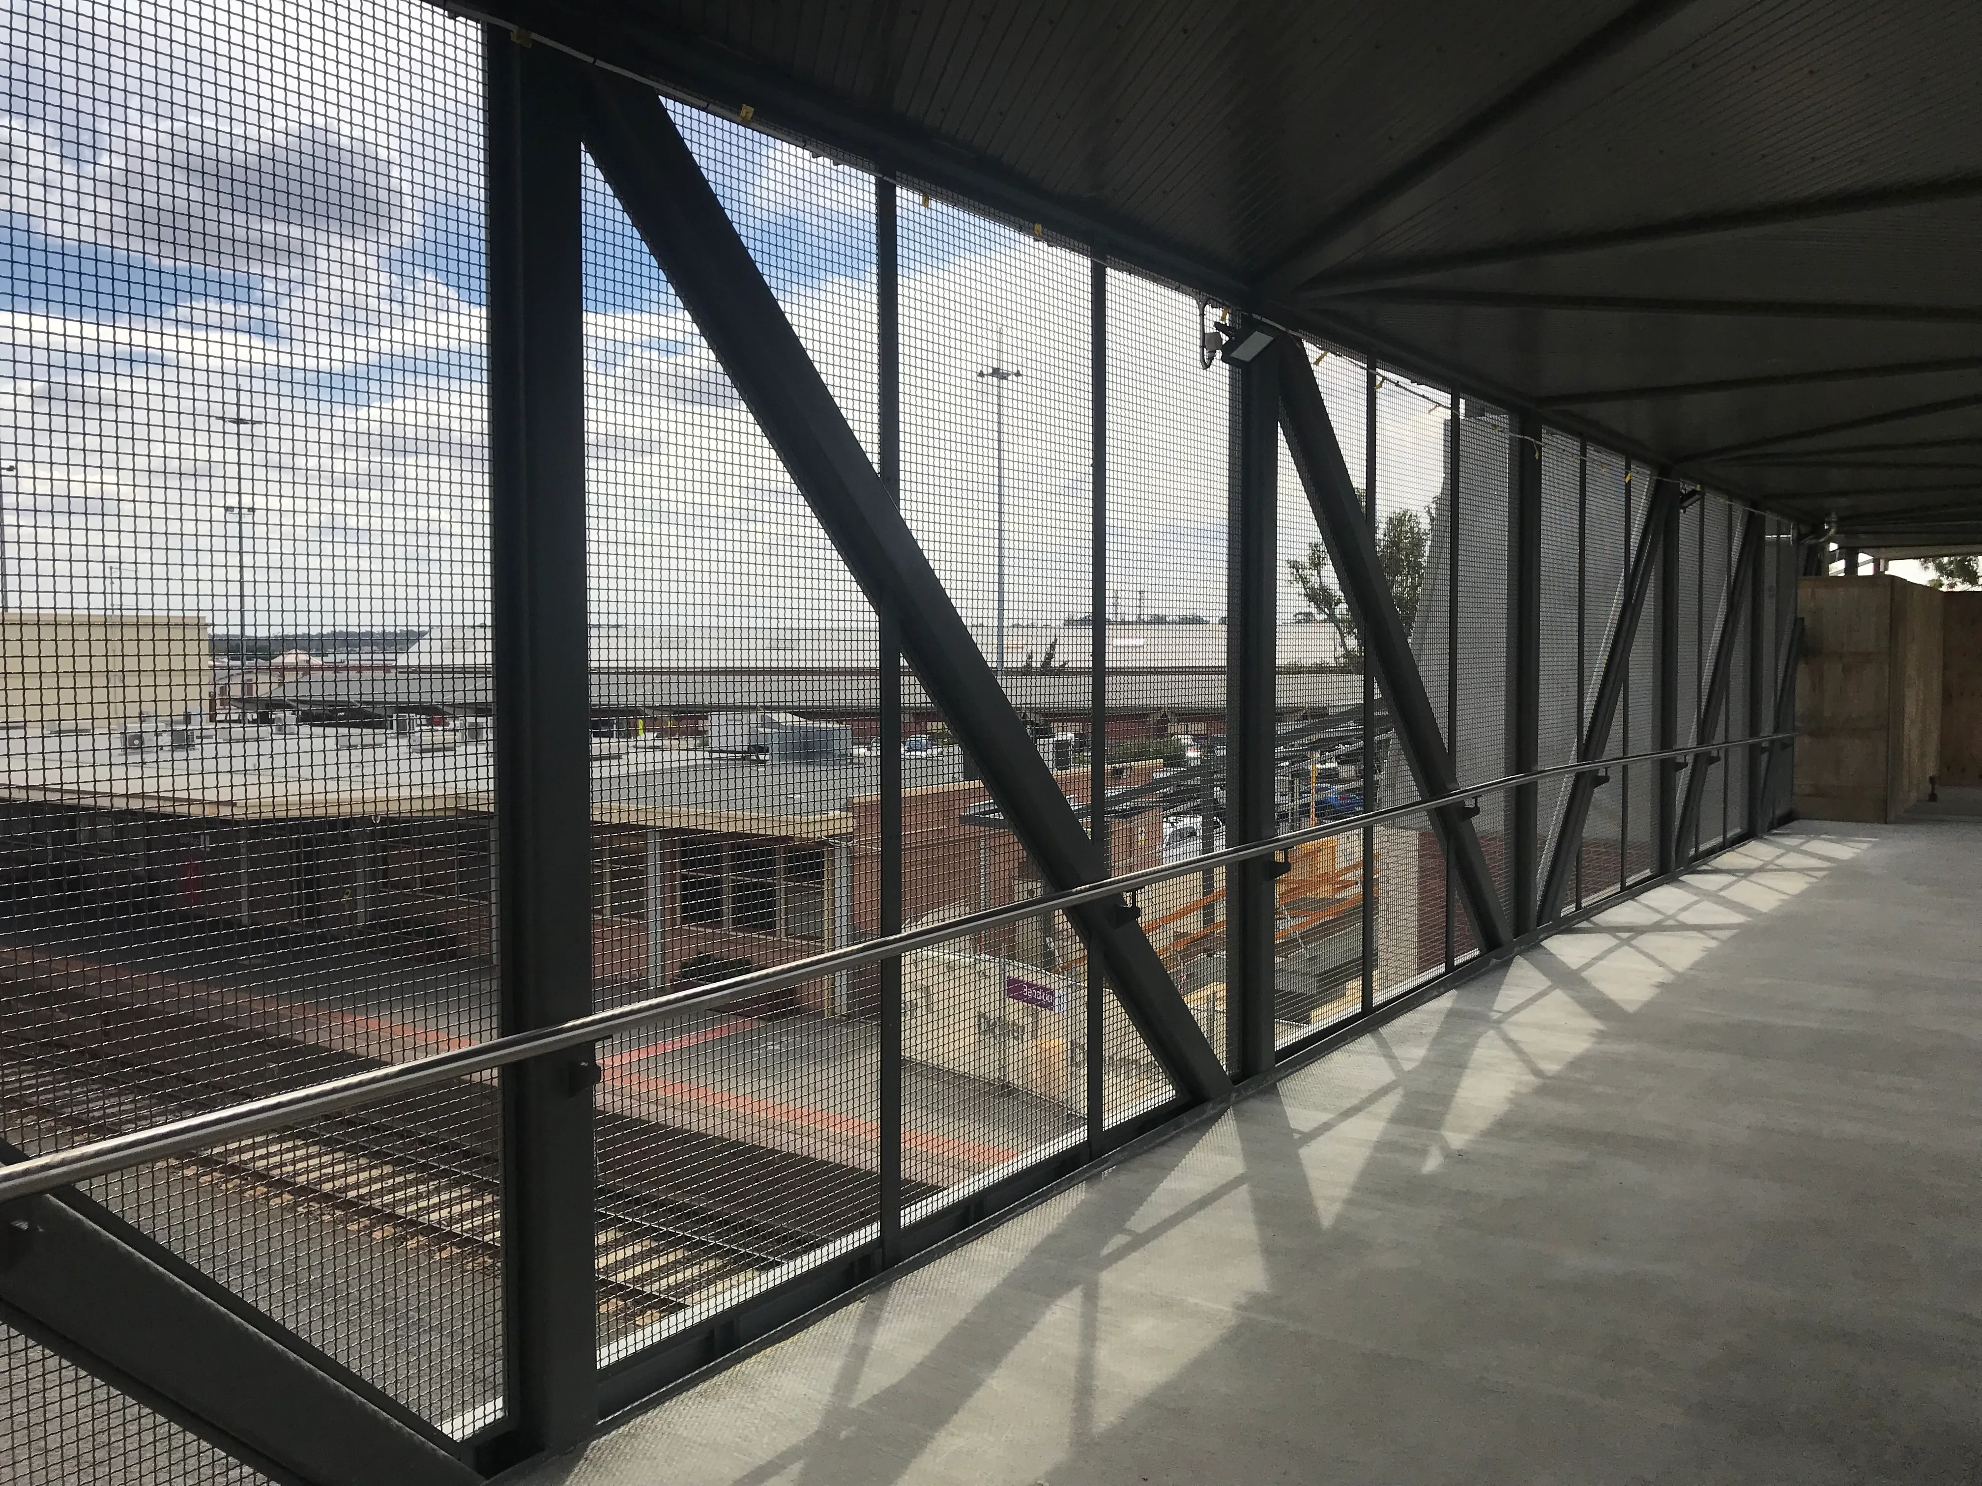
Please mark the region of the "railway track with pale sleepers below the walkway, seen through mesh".
<svg viewBox="0 0 1982 1486"><path fill-rule="evenodd" d="M0 999L0 1115L36 1145L95 1139L339 1078L373 1060L174 1007L16 981ZM168 1163L379 1242L501 1262L497 1090L458 1080L390 1106ZM870 1221L872 1173L620 1112L599 1114L601 1326L706 1304ZM920 1193L912 1193L914 1201Z"/></svg>

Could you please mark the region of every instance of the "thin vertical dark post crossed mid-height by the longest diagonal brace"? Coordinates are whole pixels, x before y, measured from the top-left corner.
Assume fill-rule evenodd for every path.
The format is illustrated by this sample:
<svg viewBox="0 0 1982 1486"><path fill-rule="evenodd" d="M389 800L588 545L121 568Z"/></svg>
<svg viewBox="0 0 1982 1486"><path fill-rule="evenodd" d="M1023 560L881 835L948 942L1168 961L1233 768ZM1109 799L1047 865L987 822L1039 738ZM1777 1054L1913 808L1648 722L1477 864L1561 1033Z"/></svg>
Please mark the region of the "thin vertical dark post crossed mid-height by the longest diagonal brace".
<svg viewBox="0 0 1982 1486"><path fill-rule="evenodd" d="M874 182L880 479L902 505L902 277L892 180ZM902 634L880 614L880 933L902 931ZM880 963L880 1262L902 1260L902 961Z"/></svg>

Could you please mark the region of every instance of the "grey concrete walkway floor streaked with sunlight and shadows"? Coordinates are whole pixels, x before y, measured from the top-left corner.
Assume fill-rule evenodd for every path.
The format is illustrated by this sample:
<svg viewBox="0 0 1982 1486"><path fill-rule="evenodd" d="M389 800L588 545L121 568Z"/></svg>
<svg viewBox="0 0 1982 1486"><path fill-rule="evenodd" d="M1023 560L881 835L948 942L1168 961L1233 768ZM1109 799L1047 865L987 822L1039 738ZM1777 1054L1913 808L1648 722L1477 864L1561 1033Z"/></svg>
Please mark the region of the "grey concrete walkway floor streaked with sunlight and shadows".
<svg viewBox="0 0 1982 1486"><path fill-rule="evenodd" d="M551 1462L1982 1478L1982 824L1796 826Z"/></svg>

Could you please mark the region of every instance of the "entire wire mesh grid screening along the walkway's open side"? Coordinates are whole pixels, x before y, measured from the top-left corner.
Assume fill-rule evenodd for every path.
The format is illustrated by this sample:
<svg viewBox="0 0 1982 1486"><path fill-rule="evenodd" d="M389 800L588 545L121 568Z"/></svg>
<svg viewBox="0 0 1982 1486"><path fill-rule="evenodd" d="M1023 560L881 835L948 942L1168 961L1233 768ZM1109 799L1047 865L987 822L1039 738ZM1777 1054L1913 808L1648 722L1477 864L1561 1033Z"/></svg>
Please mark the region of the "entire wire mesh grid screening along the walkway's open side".
<svg viewBox="0 0 1982 1486"><path fill-rule="evenodd" d="M10 228L0 505L0 1135L40 1153L494 1034L505 723L476 28L410 0L279 22L186 6L121 40L65 12L6 26L16 50L87 63L8 101L26 131L10 188L30 204ZM204 111L170 123L194 73ZM1134 933L1233 1062L1249 1012L1227 872L1189 866L1231 844L1241 371L1207 355L1217 309L668 109L876 468L898 428L892 493L1056 804L1112 874L1177 868L1136 894ZM936 688L904 670L888 711L882 626L817 491L589 160L577 226L591 1005L1050 892ZM1502 777L1526 424L1342 349L1302 361L1457 777ZM1651 479L1558 430L1534 452L1538 763L1560 765ZM1284 442L1274 499L1272 830L1288 834L1419 785ZM1677 610L1655 586L1609 757L1665 727L1693 739L1716 636L1744 618L1718 608L1740 521L1712 495L1679 517ZM1776 719L1796 543L1768 535L1762 670L1744 642L1714 739ZM1669 618L1679 697L1661 713ZM1744 767L1714 769L1701 842L1746 830ZM1657 870L1661 769L1596 791L1566 905ZM1572 789L1538 793L1546 874ZM1469 820L1506 903L1516 812L1485 791ZM1282 1048L1479 947L1423 812L1282 858L1266 947ZM1094 959L1046 911L605 1038L587 1064L601 1365L1175 1108ZM87 1195L470 1436L511 1407L503 1114L482 1074ZM882 1213L890 1173L900 1209ZM14 1333L8 1387L40 1401L6 1436L18 1478L256 1478Z"/></svg>

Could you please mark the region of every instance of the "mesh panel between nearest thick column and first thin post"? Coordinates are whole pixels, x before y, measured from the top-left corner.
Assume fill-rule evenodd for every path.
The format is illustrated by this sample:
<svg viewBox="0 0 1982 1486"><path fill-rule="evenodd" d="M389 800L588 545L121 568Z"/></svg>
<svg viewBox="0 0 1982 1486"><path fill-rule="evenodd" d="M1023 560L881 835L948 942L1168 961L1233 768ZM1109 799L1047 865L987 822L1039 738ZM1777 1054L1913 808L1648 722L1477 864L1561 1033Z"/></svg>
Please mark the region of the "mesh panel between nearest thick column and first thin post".
<svg viewBox="0 0 1982 1486"><path fill-rule="evenodd" d="M874 182L694 109L684 139L872 452ZM601 1005L872 935L874 614L624 210L585 172L593 979ZM601 1355L878 1213L876 979L610 1038Z"/></svg>

